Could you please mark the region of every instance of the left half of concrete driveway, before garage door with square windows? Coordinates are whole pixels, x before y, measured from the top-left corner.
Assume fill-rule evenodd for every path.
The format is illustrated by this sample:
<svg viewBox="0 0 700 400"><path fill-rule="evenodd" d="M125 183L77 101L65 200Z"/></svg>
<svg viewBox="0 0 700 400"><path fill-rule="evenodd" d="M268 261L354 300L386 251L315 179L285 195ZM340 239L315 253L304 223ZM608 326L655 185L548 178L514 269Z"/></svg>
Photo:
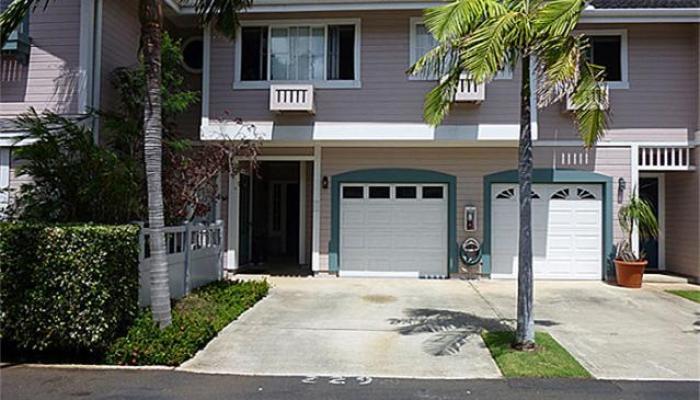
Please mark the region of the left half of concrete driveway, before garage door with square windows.
<svg viewBox="0 0 700 400"><path fill-rule="evenodd" d="M459 280L272 278L270 295L182 369L242 375L496 378L500 322Z"/></svg>

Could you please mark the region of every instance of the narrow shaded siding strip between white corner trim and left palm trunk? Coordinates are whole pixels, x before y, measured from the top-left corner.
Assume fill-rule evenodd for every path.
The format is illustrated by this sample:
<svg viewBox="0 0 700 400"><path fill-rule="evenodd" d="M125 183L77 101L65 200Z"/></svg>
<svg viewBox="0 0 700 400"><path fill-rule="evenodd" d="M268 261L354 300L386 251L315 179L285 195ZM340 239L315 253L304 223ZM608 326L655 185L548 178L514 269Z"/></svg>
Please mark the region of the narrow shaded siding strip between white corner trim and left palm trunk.
<svg viewBox="0 0 700 400"><path fill-rule="evenodd" d="M102 5L102 68L101 107L117 105L118 93L112 87L111 75L119 67L131 67L138 62L139 5L137 0L104 0Z"/></svg>

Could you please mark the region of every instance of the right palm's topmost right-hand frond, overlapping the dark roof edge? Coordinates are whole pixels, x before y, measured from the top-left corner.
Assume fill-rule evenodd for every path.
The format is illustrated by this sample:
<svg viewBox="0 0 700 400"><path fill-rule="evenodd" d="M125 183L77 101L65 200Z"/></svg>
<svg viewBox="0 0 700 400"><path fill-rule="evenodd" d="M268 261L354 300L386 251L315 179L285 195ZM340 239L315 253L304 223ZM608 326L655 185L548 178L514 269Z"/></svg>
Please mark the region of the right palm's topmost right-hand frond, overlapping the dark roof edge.
<svg viewBox="0 0 700 400"><path fill-rule="evenodd" d="M561 37L571 34L578 24L584 0L550 0L535 12L534 26L543 36Z"/></svg>

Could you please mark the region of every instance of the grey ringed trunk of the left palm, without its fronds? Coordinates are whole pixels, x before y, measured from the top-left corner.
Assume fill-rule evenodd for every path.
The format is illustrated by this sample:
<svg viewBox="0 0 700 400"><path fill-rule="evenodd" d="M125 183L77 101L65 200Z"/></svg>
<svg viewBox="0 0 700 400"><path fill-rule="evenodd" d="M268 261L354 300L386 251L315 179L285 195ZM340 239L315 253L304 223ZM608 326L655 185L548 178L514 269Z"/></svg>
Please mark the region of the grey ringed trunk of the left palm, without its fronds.
<svg viewBox="0 0 700 400"><path fill-rule="evenodd" d="M144 103L144 161L148 191L148 225L151 230L151 310L161 328L172 322L170 286L165 255L163 228L162 136L161 120L161 23L160 0L141 0L141 50L146 66L146 101Z"/></svg>

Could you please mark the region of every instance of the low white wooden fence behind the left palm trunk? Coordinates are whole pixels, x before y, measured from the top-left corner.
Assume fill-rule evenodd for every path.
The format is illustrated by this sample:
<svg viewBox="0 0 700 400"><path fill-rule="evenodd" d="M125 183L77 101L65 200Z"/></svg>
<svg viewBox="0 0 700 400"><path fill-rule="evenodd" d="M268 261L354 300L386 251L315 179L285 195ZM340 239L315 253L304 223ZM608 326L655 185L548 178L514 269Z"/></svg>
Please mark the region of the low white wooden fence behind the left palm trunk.
<svg viewBox="0 0 700 400"><path fill-rule="evenodd" d="M150 304L150 229L139 235L139 305ZM170 275L170 297L179 299L190 290L223 277L223 221L165 227L165 252Z"/></svg>

